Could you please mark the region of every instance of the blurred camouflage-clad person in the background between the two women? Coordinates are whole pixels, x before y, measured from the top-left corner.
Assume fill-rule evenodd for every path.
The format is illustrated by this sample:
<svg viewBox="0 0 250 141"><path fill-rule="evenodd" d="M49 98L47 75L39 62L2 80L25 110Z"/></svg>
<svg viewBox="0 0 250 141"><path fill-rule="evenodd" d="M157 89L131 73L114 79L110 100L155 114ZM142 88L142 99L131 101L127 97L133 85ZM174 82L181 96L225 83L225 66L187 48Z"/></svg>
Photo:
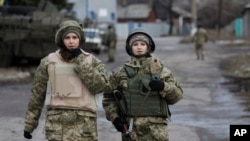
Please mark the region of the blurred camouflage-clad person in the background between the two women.
<svg viewBox="0 0 250 141"><path fill-rule="evenodd" d="M112 28L111 26L109 26L109 30L106 35L106 40L107 40L106 43L108 47L108 62L113 62L115 59L117 36L116 36L114 28Z"/></svg>

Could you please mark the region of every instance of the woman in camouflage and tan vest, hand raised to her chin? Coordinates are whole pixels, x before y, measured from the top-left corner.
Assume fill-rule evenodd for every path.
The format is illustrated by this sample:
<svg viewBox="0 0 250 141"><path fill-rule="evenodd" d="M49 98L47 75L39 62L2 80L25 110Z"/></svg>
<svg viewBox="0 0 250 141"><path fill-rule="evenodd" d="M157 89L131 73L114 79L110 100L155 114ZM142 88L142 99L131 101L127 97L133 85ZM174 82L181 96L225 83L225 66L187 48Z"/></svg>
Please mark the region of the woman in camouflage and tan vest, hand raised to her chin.
<svg viewBox="0 0 250 141"><path fill-rule="evenodd" d="M59 25L59 50L41 60L32 85L25 116L24 137L31 139L43 106L45 136L49 141L97 141L95 94L109 84L106 66L80 46L85 36L73 20Z"/></svg>

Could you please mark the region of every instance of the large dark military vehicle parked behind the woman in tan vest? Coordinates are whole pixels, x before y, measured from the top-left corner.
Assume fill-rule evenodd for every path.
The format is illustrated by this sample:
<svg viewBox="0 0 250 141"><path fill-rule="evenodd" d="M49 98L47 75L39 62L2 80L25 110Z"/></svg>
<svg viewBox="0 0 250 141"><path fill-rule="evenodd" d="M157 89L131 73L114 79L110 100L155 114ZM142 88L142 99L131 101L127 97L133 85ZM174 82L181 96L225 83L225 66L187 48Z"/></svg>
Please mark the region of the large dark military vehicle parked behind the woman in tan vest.
<svg viewBox="0 0 250 141"><path fill-rule="evenodd" d="M47 0L37 7L0 6L0 67L38 63L55 51L56 29L66 19L74 17Z"/></svg>

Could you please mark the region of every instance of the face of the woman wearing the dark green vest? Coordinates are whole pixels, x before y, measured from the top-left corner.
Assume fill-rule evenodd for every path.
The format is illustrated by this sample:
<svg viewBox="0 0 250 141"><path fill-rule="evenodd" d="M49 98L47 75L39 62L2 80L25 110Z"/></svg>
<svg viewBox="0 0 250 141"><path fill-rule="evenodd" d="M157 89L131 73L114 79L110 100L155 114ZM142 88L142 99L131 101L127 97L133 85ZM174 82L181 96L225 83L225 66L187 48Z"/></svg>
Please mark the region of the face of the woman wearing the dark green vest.
<svg viewBox="0 0 250 141"><path fill-rule="evenodd" d="M148 51L148 46L145 42L143 41L135 41L132 44L132 51L133 54L136 55L144 55Z"/></svg>

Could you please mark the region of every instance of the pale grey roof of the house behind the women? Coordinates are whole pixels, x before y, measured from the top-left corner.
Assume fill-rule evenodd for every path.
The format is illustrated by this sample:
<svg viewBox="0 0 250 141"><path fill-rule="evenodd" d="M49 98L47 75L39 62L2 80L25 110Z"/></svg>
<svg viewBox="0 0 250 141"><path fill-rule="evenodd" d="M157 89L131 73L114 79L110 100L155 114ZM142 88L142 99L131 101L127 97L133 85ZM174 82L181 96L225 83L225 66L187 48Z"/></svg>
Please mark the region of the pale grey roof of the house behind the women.
<svg viewBox="0 0 250 141"><path fill-rule="evenodd" d="M151 8L148 4L132 4L128 6L118 6L117 15L118 18L147 18Z"/></svg>

